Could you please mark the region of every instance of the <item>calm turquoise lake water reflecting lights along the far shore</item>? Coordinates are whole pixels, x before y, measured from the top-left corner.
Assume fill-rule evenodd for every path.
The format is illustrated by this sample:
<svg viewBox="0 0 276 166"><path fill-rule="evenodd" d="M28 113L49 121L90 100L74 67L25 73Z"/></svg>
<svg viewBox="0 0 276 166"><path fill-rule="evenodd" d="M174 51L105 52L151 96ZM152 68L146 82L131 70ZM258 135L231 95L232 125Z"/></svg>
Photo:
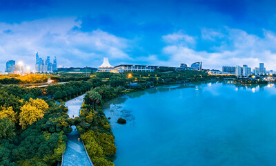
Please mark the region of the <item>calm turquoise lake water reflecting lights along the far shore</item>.
<svg viewBox="0 0 276 166"><path fill-rule="evenodd" d="M160 86L106 103L115 165L276 165L276 89ZM117 124L117 118L127 124Z"/></svg>

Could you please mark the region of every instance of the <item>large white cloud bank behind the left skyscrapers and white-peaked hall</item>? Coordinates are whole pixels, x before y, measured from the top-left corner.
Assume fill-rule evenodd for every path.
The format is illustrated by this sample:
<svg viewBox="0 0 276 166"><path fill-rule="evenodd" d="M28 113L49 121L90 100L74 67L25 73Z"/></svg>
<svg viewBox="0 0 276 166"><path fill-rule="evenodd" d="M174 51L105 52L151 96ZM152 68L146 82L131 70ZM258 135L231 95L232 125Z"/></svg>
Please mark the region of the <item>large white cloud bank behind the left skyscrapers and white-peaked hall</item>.
<svg viewBox="0 0 276 166"><path fill-rule="evenodd" d="M100 29L79 30L75 17L38 19L20 24L0 23L0 65L14 59L34 67L34 53L46 59L57 56L58 65L99 66L103 57L130 59L130 40Z"/></svg>

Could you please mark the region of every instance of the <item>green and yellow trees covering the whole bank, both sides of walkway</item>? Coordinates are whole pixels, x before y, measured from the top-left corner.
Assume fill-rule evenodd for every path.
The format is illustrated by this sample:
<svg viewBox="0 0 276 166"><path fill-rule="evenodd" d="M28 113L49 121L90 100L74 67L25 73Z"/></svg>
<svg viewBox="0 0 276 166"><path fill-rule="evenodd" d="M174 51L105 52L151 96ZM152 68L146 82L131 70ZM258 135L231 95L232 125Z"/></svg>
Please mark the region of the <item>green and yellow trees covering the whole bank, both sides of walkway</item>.
<svg viewBox="0 0 276 166"><path fill-rule="evenodd" d="M152 86L223 80L230 76L199 71L156 71L93 73L88 77L83 74L28 77L30 82L37 82L34 80L39 77L41 80L50 77L59 82L78 81L42 88L0 87L0 165L57 165L66 149L66 133L72 131L72 124L77 126L95 166L114 165L115 137L101 109L104 102ZM83 93L86 96L80 116L68 119L68 109L62 102Z"/></svg>

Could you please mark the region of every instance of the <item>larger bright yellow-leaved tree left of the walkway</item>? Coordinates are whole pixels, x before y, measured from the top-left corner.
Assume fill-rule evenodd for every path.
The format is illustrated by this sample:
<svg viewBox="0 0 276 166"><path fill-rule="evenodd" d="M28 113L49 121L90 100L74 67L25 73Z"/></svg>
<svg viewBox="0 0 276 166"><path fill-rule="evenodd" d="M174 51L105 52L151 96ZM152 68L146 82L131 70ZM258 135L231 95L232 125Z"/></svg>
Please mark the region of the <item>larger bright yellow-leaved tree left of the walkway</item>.
<svg viewBox="0 0 276 166"><path fill-rule="evenodd" d="M44 100L30 98L29 102L23 105L19 114L19 124L22 129L26 129L28 124L32 124L43 118L48 108L49 106Z"/></svg>

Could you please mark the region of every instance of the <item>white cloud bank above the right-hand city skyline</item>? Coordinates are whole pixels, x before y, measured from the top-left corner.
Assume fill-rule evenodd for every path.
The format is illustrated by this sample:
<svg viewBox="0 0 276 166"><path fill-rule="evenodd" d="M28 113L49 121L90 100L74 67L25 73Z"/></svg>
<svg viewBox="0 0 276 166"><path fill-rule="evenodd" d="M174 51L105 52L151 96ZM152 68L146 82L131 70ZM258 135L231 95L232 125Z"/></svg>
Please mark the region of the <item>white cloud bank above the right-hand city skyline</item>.
<svg viewBox="0 0 276 166"><path fill-rule="evenodd" d="M275 70L276 35L274 33L264 30L264 37L258 37L244 30L230 28L225 28L225 30L224 34L215 30L201 30L207 34L201 36L203 39L219 42L223 37L226 40L226 42L221 42L221 45L213 52L196 50L185 44L168 44L162 48L162 53L168 56L167 64L179 66L180 63L203 62L204 68L221 69L224 65L242 66L243 64L255 68L260 62L264 62L267 69Z"/></svg>

